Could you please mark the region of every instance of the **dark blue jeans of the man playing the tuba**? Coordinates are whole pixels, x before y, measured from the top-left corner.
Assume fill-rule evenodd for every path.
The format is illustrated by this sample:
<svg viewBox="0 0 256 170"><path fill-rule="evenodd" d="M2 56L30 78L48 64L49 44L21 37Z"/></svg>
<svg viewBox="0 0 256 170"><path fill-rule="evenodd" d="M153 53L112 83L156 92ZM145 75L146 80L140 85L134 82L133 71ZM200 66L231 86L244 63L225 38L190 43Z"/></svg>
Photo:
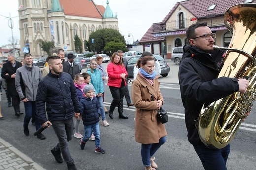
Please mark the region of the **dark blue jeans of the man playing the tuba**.
<svg viewBox="0 0 256 170"><path fill-rule="evenodd" d="M222 149L209 149L204 144L193 145L205 170L227 170L226 161L230 152L230 145Z"/></svg>

